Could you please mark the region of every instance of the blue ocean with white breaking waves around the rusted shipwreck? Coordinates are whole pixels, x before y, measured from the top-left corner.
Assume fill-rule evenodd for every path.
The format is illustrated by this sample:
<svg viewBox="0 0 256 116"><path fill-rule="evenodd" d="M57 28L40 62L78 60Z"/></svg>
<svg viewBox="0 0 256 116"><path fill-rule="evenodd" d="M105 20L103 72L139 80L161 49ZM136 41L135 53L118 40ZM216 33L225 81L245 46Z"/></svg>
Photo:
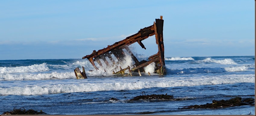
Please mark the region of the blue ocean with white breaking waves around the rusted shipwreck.
<svg viewBox="0 0 256 116"><path fill-rule="evenodd" d="M139 61L147 57L137 57ZM126 57L122 68L131 64ZM165 57L166 75L142 76L98 71L87 59L0 60L0 114L14 108L48 115L255 115L255 106L178 109L234 97L255 99L255 56ZM96 64L97 65L97 64ZM88 79L76 79L84 66ZM136 100L168 94L182 100ZM119 99L110 100L111 98Z"/></svg>

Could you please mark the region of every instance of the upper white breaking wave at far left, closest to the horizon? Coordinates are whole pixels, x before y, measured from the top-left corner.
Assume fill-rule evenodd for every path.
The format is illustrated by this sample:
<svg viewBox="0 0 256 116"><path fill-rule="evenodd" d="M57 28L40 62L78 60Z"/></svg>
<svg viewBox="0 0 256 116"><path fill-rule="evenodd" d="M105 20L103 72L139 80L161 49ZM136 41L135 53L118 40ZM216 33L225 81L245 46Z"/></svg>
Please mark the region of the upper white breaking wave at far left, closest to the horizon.
<svg viewBox="0 0 256 116"><path fill-rule="evenodd" d="M25 73L25 72L40 72L48 71L46 63L40 65L30 65L30 66L19 66L19 67L0 67L0 74L6 73Z"/></svg>

